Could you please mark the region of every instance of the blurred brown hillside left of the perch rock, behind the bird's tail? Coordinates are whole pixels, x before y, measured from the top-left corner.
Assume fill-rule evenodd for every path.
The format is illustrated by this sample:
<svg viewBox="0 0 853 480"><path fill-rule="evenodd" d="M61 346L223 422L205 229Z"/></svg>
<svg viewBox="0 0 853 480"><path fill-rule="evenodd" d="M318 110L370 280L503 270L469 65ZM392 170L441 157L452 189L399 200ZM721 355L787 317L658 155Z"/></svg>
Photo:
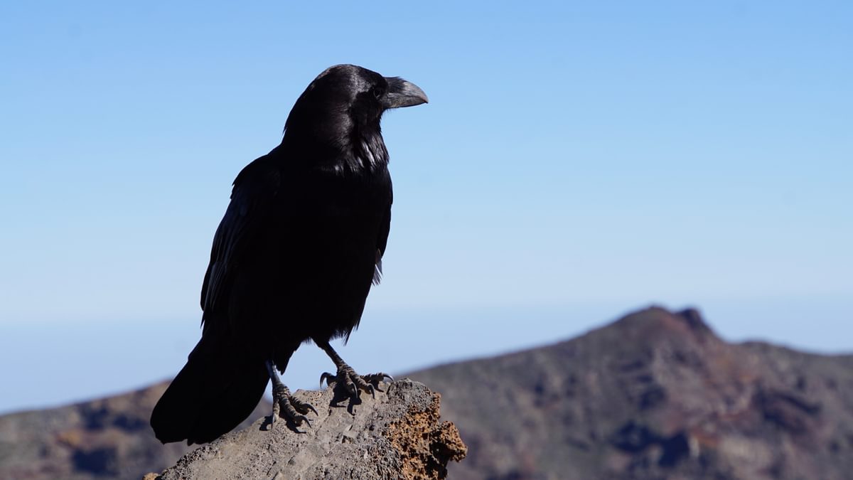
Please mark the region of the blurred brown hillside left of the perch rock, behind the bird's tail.
<svg viewBox="0 0 853 480"><path fill-rule="evenodd" d="M168 384L67 407L3 415L0 479L138 479L173 465L190 447L163 445L148 426L151 410ZM271 408L268 401L261 401L241 426L269 414Z"/></svg>

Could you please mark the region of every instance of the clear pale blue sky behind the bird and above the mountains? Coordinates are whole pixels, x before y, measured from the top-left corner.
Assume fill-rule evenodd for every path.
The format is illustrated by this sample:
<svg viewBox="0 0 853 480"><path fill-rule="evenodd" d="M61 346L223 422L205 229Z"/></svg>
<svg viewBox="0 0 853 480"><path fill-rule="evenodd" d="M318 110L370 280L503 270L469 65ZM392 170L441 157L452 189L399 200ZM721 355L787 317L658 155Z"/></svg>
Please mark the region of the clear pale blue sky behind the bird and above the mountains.
<svg viewBox="0 0 853 480"><path fill-rule="evenodd" d="M231 181L342 62L430 97L383 122L357 370L653 302L853 350L853 3L311 5L0 4L0 412L177 372ZM310 387L331 362L301 350Z"/></svg>

